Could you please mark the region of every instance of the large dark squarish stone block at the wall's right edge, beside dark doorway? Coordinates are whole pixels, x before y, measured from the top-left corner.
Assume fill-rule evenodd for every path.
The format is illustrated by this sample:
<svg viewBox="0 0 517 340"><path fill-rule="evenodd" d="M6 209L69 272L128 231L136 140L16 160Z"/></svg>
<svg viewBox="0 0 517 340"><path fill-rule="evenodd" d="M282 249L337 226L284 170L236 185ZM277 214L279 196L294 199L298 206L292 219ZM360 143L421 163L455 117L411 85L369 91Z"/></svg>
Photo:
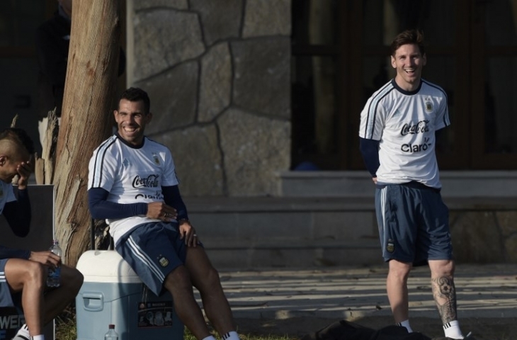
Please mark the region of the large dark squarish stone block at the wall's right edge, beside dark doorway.
<svg viewBox="0 0 517 340"><path fill-rule="evenodd" d="M233 101L242 108L290 119L290 38L232 42Z"/></svg>

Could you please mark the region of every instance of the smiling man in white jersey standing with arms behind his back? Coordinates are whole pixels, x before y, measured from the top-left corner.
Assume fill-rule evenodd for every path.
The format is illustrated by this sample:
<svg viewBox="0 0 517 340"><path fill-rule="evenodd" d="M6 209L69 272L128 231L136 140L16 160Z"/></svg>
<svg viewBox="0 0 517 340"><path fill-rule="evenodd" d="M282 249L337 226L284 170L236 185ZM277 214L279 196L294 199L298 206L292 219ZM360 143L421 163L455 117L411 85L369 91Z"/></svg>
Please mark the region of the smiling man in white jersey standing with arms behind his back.
<svg viewBox="0 0 517 340"><path fill-rule="evenodd" d="M450 125L447 95L421 79L424 36L407 30L391 44L397 75L371 96L360 115L360 151L375 183L375 210L394 320L409 332L407 278L428 263L445 336L464 337L456 314L448 208L441 199L436 131Z"/></svg>

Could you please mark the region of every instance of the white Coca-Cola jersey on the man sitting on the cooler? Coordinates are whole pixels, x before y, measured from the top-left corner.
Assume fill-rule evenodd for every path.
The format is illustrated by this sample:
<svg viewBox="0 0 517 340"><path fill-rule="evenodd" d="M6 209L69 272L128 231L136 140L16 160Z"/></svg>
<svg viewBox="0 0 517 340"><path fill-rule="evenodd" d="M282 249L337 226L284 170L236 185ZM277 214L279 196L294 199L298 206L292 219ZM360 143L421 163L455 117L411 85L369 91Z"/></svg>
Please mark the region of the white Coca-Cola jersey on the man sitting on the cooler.
<svg viewBox="0 0 517 340"><path fill-rule="evenodd" d="M163 202L161 187L176 185L178 178L170 150L147 137L142 147L135 148L113 135L93 151L90 159L88 188L108 191L109 202ZM116 244L137 225L160 220L140 215L106 222Z"/></svg>

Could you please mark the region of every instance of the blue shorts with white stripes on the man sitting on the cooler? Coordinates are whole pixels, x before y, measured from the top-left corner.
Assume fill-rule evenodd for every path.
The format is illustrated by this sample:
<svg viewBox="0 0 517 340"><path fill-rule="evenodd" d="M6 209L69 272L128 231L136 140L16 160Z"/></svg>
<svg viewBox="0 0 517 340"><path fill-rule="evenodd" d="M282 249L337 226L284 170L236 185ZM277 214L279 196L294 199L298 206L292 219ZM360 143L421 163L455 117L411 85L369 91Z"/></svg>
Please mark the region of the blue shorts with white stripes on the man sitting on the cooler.
<svg viewBox="0 0 517 340"><path fill-rule="evenodd" d="M162 293L165 277L185 263L186 244L176 222L151 222L125 234L116 246L143 283L156 295Z"/></svg>

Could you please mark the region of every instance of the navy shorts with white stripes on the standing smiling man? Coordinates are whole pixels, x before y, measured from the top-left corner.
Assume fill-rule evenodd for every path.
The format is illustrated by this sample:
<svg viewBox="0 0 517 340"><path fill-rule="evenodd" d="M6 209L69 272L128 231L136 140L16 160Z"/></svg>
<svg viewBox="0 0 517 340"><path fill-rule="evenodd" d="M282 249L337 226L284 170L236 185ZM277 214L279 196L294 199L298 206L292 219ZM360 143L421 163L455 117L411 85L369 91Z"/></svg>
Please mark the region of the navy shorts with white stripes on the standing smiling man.
<svg viewBox="0 0 517 340"><path fill-rule="evenodd" d="M449 210L438 189L417 182L377 186L375 211L385 261L421 266L453 259Z"/></svg>

